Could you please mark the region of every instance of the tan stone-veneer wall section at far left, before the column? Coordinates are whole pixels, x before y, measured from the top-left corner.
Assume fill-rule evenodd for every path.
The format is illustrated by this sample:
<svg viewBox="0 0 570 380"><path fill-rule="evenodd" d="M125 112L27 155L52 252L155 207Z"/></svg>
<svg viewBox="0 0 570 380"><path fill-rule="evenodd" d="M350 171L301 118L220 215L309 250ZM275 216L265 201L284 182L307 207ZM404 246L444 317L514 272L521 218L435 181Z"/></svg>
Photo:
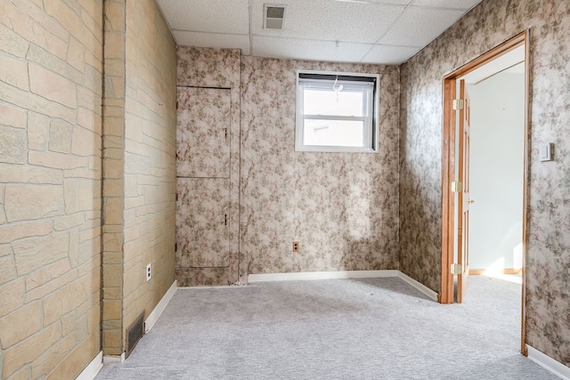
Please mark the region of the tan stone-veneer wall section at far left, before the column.
<svg viewBox="0 0 570 380"><path fill-rule="evenodd" d="M0 0L0 377L100 351L102 0Z"/></svg>

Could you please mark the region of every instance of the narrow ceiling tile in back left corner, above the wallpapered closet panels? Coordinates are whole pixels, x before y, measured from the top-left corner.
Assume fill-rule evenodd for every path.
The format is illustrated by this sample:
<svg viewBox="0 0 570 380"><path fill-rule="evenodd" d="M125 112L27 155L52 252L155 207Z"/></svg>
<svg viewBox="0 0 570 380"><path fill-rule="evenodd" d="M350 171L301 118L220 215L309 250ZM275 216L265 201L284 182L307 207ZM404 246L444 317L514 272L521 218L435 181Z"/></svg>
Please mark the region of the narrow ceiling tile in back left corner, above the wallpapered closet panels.
<svg viewBox="0 0 570 380"><path fill-rule="evenodd" d="M243 55L249 55L249 36L197 33L183 30L175 30L173 35L176 44L179 45L241 49Z"/></svg>

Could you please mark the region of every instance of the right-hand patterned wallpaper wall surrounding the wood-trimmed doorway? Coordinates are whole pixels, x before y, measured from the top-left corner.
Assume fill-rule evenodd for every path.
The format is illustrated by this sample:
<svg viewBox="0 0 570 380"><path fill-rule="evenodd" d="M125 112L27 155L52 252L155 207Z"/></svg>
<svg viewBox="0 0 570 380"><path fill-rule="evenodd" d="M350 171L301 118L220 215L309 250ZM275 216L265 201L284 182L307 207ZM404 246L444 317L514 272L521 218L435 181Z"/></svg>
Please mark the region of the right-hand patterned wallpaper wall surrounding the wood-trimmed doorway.
<svg viewBox="0 0 570 380"><path fill-rule="evenodd" d="M442 81L531 28L527 343L570 364L570 3L484 0L401 67L401 270L439 289ZM555 160L537 159L554 142Z"/></svg>

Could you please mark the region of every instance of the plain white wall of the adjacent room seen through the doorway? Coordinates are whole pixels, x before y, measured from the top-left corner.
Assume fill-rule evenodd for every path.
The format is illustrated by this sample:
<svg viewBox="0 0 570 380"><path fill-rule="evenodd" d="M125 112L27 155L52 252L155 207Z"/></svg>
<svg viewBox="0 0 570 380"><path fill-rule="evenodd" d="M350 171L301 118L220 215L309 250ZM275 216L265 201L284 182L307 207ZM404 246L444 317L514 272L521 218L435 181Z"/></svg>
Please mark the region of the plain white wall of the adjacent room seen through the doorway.
<svg viewBox="0 0 570 380"><path fill-rule="evenodd" d="M521 70L518 70L521 71ZM471 98L469 267L520 268L522 255L525 78L505 71Z"/></svg>

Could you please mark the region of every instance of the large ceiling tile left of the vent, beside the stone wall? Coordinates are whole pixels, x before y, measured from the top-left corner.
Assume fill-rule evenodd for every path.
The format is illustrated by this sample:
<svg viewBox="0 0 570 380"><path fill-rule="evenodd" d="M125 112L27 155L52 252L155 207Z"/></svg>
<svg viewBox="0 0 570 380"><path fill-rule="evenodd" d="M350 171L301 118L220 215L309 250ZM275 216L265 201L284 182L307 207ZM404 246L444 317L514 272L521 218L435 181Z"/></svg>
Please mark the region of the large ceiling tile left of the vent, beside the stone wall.
<svg viewBox="0 0 570 380"><path fill-rule="evenodd" d="M157 3L173 29L249 33L248 0L158 0Z"/></svg>

